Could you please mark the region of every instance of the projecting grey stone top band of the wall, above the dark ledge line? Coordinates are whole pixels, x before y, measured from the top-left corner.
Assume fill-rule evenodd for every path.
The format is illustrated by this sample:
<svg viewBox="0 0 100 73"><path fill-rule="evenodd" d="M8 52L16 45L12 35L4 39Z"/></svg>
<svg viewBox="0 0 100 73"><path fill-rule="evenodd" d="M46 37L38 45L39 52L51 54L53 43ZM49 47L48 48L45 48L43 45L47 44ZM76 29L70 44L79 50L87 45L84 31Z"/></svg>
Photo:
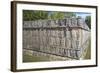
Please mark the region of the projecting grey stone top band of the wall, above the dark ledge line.
<svg viewBox="0 0 100 73"><path fill-rule="evenodd" d="M57 20L35 20L35 21L23 21L23 27L81 27L89 30L84 19L77 18L66 18L66 19L57 19Z"/></svg>

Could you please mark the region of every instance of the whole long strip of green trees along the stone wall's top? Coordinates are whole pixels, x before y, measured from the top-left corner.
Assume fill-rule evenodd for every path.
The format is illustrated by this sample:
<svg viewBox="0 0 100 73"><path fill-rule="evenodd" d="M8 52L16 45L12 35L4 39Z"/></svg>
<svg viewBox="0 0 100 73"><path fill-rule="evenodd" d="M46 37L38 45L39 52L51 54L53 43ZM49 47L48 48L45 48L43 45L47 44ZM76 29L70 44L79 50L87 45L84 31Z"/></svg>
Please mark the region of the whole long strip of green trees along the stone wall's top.
<svg viewBox="0 0 100 73"><path fill-rule="evenodd" d="M41 20L41 19L64 19L75 17L74 12L57 12L57 11L37 11L37 10L23 10L23 20Z"/></svg>

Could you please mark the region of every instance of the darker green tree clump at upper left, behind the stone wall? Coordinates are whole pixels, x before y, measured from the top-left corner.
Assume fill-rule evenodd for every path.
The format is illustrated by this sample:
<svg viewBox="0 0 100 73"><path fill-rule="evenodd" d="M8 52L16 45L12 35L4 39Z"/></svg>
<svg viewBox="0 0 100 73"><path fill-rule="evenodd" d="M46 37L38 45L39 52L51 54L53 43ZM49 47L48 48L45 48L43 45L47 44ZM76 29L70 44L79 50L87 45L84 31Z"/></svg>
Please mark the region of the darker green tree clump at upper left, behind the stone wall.
<svg viewBox="0 0 100 73"><path fill-rule="evenodd" d="M24 21L40 20L40 19L47 19L47 18L48 18L48 12L46 11L23 10Z"/></svg>

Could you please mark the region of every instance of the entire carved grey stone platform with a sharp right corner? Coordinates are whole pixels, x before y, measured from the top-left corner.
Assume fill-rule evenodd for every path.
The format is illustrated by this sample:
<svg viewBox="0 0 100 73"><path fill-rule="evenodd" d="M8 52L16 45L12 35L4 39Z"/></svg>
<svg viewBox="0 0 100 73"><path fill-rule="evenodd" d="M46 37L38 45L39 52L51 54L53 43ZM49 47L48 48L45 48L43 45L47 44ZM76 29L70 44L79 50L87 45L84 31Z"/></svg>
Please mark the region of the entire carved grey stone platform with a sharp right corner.
<svg viewBox="0 0 100 73"><path fill-rule="evenodd" d="M89 38L90 29L82 18L23 21L23 49L32 55L81 59Z"/></svg>

